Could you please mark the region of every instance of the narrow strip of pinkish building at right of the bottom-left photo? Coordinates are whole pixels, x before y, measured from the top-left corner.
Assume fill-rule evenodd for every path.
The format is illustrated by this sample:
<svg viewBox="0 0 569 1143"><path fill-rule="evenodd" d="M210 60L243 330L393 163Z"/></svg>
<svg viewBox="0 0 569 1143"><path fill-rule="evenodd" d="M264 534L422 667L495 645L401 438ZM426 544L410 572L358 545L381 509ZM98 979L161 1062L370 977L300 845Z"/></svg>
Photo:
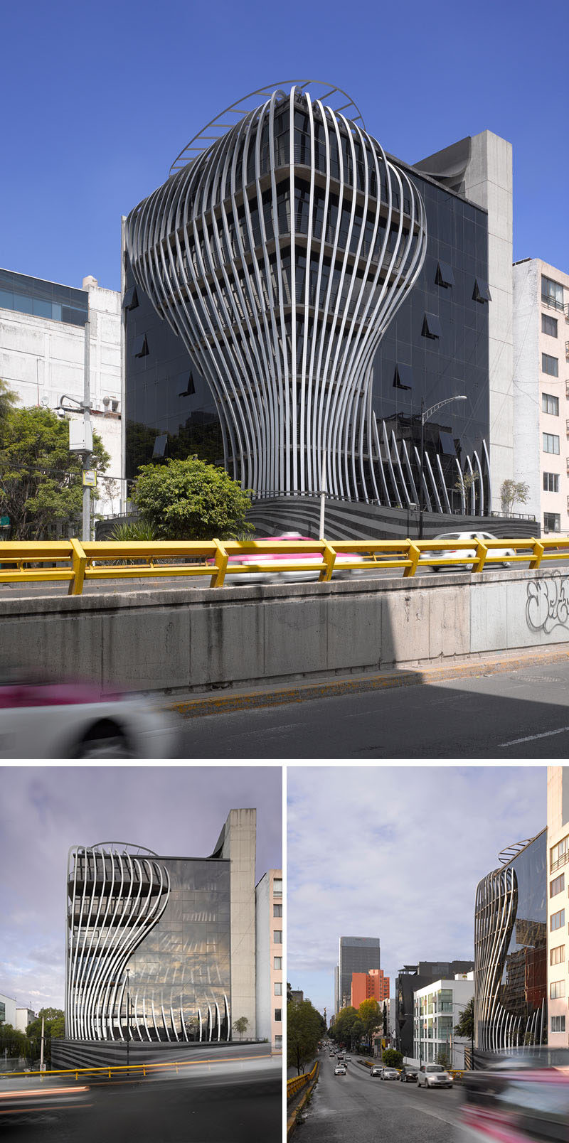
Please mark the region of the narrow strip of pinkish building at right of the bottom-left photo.
<svg viewBox="0 0 569 1143"><path fill-rule="evenodd" d="M255 889L257 1036L282 1048L282 870L270 869ZM300 997L302 999L302 997Z"/></svg>

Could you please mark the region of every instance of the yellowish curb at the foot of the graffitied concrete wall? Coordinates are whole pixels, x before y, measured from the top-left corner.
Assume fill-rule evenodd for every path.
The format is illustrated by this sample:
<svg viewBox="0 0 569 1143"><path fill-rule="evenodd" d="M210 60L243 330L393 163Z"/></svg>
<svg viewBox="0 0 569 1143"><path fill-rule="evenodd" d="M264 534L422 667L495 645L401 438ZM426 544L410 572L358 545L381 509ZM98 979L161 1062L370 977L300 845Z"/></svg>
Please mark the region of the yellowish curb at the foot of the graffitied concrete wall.
<svg viewBox="0 0 569 1143"><path fill-rule="evenodd" d="M366 673L343 678L321 679L319 682L298 682L290 686L267 687L255 690L230 692L224 695L195 695L190 698L167 703L169 710L176 711L183 718L201 718L206 714L222 714L231 711L262 709L264 706L284 706L289 703L307 702L311 698L331 698L337 695L362 694L367 690L390 690L395 687L412 687L440 682L444 679L476 678L481 674L499 674L504 671L520 670L540 663L562 662L569 658L569 650L551 650L534 653L520 657L481 660L476 656L467 662L460 661L444 666L408 666L404 670L380 671L376 674Z"/></svg>

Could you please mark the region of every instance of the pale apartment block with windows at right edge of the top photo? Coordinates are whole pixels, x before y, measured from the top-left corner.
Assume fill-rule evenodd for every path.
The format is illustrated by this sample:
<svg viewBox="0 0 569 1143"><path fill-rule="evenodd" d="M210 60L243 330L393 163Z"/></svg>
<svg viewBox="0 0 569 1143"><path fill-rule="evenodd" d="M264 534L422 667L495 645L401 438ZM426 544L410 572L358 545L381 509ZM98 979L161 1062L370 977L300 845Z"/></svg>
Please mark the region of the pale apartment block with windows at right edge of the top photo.
<svg viewBox="0 0 569 1143"><path fill-rule="evenodd" d="M569 274L540 258L513 266L514 480L543 535L569 531Z"/></svg>

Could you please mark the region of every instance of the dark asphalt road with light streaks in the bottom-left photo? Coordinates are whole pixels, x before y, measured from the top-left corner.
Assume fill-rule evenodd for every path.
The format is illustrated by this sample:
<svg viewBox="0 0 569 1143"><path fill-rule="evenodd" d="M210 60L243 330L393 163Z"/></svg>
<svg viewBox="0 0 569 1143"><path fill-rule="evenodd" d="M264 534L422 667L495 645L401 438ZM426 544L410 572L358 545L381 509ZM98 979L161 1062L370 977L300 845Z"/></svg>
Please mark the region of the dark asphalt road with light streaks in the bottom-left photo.
<svg viewBox="0 0 569 1143"><path fill-rule="evenodd" d="M46 1095L33 1113L1 1113L2 1136L25 1143L281 1141L280 1057L191 1065L177 1076L160 1072L136 1081L89 1079L87 1085L67 1103L55 1097L50 1106Z"/></svg>

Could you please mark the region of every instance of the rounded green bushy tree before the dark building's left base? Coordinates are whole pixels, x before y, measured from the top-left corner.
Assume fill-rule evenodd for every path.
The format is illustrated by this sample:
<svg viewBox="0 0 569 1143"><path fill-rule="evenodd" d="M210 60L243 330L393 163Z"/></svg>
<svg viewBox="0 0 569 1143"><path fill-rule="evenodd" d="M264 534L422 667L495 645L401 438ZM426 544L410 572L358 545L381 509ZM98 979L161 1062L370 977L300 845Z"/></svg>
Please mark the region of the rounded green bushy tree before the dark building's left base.
<svg viewBox="0 0 569 1143"><path fill-rule="evenodd" d="M213 539L253 531L246 521L249 494L224 469L197 456L144 464L131 498L159 539Z"/></svg>

